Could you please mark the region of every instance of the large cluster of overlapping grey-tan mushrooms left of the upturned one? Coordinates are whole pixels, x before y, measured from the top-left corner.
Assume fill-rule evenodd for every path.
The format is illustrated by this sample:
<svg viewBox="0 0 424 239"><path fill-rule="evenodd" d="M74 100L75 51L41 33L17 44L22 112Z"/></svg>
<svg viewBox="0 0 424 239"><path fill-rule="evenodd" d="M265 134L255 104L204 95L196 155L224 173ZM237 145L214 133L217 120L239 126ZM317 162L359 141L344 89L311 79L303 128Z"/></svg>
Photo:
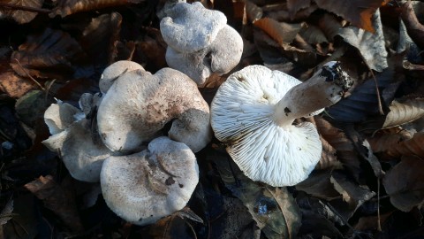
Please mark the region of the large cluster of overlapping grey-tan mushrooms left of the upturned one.
<svg viewBox="0 0 424 239"><path fill-rule="evenodd" d="M118 61L99 88L102 97L83 94L80 109L50 105L44 119L51 136L43 143L72 177L100 181L106 204L127 221L146 225L182 209L199 181L194 152L212 137L197 85L171 68L152 74Z"/></svg>

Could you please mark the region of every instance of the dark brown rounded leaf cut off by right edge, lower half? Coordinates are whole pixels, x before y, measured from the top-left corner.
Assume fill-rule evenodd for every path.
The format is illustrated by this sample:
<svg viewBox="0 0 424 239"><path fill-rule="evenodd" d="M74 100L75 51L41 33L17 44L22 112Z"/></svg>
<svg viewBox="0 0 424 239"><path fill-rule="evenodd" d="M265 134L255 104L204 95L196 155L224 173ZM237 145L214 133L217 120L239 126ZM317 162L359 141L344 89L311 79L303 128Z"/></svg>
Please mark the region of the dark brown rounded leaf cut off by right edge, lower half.
<svg viewBox="0 0 424 239"><path fill-rule="evenodd" d="M390 202L402 212L409 212L424 201L424 160L405 156L382 179Z"/></svg>

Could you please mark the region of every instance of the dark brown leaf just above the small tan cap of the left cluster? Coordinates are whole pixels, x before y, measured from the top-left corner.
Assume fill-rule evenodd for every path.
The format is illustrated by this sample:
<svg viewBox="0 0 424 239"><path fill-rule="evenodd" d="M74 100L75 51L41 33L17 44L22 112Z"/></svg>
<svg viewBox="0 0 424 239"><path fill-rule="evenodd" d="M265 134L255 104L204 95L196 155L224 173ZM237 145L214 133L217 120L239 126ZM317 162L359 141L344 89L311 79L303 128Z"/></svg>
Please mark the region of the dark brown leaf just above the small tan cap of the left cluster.
<svg viewBox="0 0 424 239"><path fill-rule="evenodd" d="M80 44L95 66L109 66L113 63L117 52L115 42L119 40L121 24L121 14L111 12L92 19L85 27Z"/></svg>

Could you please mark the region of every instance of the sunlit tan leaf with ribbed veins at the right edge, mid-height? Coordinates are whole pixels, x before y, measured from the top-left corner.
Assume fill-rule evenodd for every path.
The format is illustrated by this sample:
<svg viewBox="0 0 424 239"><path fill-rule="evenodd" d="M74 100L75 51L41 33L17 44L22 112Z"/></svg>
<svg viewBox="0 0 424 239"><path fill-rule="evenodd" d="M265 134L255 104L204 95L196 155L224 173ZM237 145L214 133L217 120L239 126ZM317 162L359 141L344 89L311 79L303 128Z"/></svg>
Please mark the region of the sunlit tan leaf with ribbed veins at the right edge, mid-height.
<svg viewBox="0 0 424 239"><path fill-rule="evenodd" d="M393 101L390 112L382 127L395 127L417 120L424 116L424 98L410 99L405 102Z"/></svg>

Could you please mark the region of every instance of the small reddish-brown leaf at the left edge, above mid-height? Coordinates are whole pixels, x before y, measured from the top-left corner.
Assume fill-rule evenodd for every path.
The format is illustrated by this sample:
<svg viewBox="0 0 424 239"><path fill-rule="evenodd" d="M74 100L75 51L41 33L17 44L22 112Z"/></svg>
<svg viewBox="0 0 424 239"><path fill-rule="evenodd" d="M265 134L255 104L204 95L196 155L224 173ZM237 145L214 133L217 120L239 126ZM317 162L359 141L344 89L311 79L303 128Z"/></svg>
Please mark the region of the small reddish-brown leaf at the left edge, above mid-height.
<svg viewBox="0 0 424 239"><path fill-rule="evenodd" d="M19 98L33 89L38 89L34 81L21 77L14 72L0 73L0 79L2 79L0 90L13 98Z"/></svg>

